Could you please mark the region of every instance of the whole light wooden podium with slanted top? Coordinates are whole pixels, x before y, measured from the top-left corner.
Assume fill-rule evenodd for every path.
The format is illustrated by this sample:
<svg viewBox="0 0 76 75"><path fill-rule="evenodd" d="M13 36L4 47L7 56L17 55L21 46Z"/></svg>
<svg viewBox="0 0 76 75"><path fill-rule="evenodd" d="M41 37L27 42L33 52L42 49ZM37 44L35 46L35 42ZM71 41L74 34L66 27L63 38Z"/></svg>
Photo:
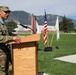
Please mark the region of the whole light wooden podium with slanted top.
<svg viewBox="0 0 76 75"><path fill-rule="evenodd" d="M38 44L40 35L21 37L21 43L12 44L13 75L38 75Z"/></svg>

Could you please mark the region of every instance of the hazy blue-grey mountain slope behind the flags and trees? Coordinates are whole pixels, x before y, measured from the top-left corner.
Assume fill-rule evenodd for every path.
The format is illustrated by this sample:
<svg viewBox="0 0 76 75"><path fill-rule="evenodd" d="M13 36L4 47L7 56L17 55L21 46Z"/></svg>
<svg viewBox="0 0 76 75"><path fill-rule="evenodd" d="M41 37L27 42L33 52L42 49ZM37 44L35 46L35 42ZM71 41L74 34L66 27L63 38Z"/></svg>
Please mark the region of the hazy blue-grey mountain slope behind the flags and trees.
<svg viewBox="0 0 76 75"><path fill-rule="evenodd" d="M59 16L59 15L47 14L48 25L55 25L57 16ZM35 17L36 17L36 20L39 25L44 24L44 15L40 15L40 16L35 15ZM59 20L61 20L62 17L63 16L59 16ZM31 25L31 14L27 13L25 11L12 11L10 13L8 20L10 20L10 19L18 21L22 24ZM72 21L73 21L74 25L76 26L76 20L72 19Z"/></svg>

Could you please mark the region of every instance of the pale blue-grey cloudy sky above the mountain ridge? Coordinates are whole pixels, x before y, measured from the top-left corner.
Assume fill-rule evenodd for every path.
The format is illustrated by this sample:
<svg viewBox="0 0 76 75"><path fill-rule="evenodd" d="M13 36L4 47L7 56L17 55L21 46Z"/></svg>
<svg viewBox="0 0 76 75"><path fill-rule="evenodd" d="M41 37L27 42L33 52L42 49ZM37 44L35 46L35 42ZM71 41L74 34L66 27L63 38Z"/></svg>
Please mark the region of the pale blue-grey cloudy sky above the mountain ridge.
<svg viewBox="0 0 76 75"><path fill-rule="evenodd" d="M66 16L76 20L76 0L0 0L0 6L11 11L22 10L34 15L47 14Z"/></svg>

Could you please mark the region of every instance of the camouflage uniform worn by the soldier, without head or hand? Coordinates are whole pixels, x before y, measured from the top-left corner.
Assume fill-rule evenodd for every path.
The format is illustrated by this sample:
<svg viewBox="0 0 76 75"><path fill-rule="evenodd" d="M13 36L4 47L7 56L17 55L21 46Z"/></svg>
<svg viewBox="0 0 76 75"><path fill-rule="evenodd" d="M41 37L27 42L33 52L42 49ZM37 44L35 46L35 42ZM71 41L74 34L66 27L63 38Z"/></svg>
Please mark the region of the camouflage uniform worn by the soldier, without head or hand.
<svg viewBox="0 0 76 75"><path fill-rule="evenodd" d="M6 44L9 40L13 40L13 37L8 35L7 27L0 18L0 75L8 75L9 62L12 64L10 49Z"/></svg>

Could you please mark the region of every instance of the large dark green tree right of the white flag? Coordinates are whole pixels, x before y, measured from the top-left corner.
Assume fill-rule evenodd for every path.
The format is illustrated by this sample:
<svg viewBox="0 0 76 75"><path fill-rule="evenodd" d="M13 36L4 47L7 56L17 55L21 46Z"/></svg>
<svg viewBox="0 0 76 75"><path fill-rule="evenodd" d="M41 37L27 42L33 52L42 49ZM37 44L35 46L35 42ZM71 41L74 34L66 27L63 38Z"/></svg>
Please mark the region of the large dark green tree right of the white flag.
<svg viewBox="0 0 76 75"><path fill-rule="evenodd" d="M62 18L62 21L59 23L60 31L63 32L72 32L74 25L71 19L67 19L65 16Z"/></svg>

